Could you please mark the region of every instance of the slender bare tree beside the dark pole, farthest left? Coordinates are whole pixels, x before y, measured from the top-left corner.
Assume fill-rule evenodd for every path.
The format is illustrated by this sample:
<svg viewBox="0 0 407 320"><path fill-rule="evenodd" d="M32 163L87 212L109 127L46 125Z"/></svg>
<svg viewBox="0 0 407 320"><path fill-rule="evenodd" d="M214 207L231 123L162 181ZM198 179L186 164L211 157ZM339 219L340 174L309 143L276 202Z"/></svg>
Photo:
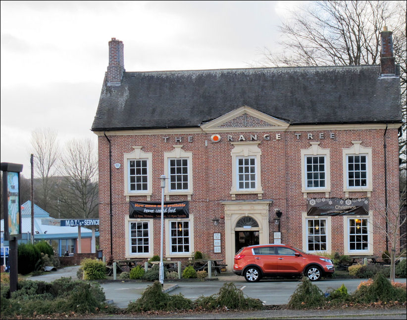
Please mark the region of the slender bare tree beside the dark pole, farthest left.
<svg viewBox="0 0 407 320"><path fill-rule="evenodd" d="M41 187L36 191L36 204L45 211L51 209L51 193L55 188L56 165L59 157L57 133L53 129L37 129L31 134L34 149L34 171L41 180Z"/></svg>

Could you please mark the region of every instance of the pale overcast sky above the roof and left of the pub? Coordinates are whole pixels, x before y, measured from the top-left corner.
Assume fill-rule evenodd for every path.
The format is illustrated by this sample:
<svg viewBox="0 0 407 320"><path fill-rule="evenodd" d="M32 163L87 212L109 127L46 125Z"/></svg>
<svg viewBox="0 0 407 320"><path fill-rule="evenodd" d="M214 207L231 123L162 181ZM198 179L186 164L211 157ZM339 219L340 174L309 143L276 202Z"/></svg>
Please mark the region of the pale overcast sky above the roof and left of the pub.
<svg viewBox="0 0 407 320"><path fill-rule="evenodd" d="M29 178L38 128L96 141L111 38L127 71L245 68L277 48L293 2L1 1L1 162Z"/></svg>

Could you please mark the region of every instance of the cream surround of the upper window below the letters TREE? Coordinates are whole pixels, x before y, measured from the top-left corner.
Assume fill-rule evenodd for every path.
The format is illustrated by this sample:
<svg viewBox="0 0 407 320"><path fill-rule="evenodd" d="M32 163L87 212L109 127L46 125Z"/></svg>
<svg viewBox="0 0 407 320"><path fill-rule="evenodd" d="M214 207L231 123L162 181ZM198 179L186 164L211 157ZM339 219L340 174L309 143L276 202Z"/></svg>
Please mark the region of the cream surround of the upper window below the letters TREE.
<svg viewBox="0 0 407 320"><path fill-rule="evenodd" d="M331 165L330 165L330 149L323 149L319 146L319 141L309 142L311 146L308 149L301 149L301 185L302 192L306 198L307 193L325 192L325 196L329 197L331 191ZM307 187L306 183L306 157L307 156L324 156L325 157L325 186L324 187Z"/></svg>

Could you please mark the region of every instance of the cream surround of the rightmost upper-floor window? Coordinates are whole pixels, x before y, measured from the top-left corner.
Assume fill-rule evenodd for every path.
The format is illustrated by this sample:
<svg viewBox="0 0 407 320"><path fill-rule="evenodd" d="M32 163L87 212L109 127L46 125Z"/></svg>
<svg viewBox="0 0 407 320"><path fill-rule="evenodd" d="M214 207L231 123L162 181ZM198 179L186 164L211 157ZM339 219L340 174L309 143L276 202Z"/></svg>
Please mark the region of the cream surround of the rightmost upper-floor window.
<svg viewBox="0 0 407 320"><path fill-rule="evenodd" d="M350 148L343 148L343 188L345 197L349 197L349 192L367 192L367 196L370 196L370 192L373 191L372 180L372 148L363 147L360 144L362 141L352 141L353 146ZM348 157L349 156L366 156L366 186L349 186L349 170L348 170Z"/></svg>

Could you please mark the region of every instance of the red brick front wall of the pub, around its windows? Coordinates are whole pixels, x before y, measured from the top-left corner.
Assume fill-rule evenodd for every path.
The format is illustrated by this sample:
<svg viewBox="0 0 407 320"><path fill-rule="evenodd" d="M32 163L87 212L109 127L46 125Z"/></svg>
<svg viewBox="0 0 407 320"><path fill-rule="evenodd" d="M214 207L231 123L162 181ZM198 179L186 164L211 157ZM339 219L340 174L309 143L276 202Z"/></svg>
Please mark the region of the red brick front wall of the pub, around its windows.
<svg viewBox="0 0 407 320"><path fill-rule="evenodd" d="M242 119L237 119L241 122ZM233 123L229 124L233 127ZM319 138L319 133L324 138ZM282 243L302 247L302 212L306 211L306 202L301 184L301 149L310 147L309 141L320 141L321 148L330 149L331 192L329 197L344 198L343 190L343 148L351 147L353 140L361 140L363 147L372 148L373 191L369 198L369 210L375 217L383 212L385 203L384 183L384 129L352 129L352 130L320 130L282 132L221 132L220 142L213 143L211 134L186 133L164 135L123 135L109 136L112 147L112 164L120 163L120 169L112 166L112 212L113 212L113 257L124 258L125 226L124 219L129 214L129 203L124 194L124 164L123 153L133 151L132 146L141 145L144 152L153 153L153 195L151 201L161 200L161 188L158 177L164 173L164 152L172 151L174 144L183 144L183 150L193 152L193 195L190 201L190 213L194 214L195 246L194 251L201 251L211 258L225 259L225 225L224 205L221 201L231 200L232 163L231 150L233 145L227 141L231 135L237 141L241 135L246 139L257 135L261 143L261 184L263 199L272 199L269 207L270 242L273 242L273 232L277 226L273 223L274 210L282 210L281 232ZM307 138L310 133L313 139ZM334 134L334 139L330 134ZM279 139L276 139L279 134ZM270 135L270 139L262 138ZM391 210L398 206L398 131L389 129L387 142L387 180L388 203ZM164 137L168 137L165 139ZM181 142L176 138L181 137ZM192 137L192 142L188 141ZM205 146L207 141L207 146ZM100 183L100 247L106 256L110 255L110 217L109 217L109 159L108 142L105 137L99 137L99 183ZM308 197L325 197L325 193L308 193ZM366 192L350 192L349 197L366 197ZM237 194L236 200L255 200L257 194ZM146 201L146 196L131 196L132 201ZM187 196L171 196L170 201L185 201ZM212 218L219 218L220 224L213 226ZM332 217L332 252L344 252L343 217ZM160 221L154 220L154 254L159 254ZM221 253L213 253L213 232L221 233ZM165 236L164 236L165 241ZM384 234L379 228L374 228L374 255L381 257L385 250ZM164 244L165 248L165 244ZM165 252L164 252L165 256ZM174 260L174 259L173 259ZM230 267L230 266L229 266Z"/></svg>

